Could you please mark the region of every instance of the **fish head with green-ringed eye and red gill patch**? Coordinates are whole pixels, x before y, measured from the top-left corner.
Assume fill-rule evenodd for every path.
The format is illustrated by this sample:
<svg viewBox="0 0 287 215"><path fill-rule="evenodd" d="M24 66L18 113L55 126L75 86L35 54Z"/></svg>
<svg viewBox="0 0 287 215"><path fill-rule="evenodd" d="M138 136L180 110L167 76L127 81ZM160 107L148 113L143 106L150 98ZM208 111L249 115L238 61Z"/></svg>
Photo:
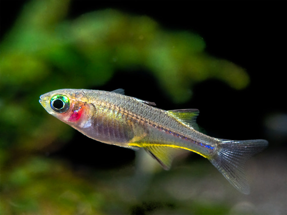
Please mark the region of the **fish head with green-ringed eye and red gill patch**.
<svg viewBox="0 0 287 215"><path fill-rule="evenodd" d="M40 96L40 104L59 120L75 126L88 121L90 105L84 90L59 89Z"/></svg>

